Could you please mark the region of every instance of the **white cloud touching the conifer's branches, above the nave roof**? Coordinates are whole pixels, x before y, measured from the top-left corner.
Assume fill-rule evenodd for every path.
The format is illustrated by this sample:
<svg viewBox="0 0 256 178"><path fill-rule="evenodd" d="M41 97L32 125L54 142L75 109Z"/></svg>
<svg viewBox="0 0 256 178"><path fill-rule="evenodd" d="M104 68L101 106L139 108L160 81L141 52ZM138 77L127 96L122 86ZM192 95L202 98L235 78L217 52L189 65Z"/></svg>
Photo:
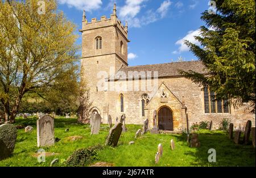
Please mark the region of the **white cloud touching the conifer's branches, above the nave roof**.
<svg viewBox="0 0 256 178"><path fill-rule="evenodd" d="M189 42L191 42L193 44L200 45L199 41L197 41L195 39L195 36L201 36L200 33L201 33L200 29L197 29L195 31L189 31L184 38L177 40L177 42L175 44L180 45L180 47L178 50L173 51L172 53L178 54L181 52L189 51L189 47L184 43L185 40L188 40Z"/></svg>

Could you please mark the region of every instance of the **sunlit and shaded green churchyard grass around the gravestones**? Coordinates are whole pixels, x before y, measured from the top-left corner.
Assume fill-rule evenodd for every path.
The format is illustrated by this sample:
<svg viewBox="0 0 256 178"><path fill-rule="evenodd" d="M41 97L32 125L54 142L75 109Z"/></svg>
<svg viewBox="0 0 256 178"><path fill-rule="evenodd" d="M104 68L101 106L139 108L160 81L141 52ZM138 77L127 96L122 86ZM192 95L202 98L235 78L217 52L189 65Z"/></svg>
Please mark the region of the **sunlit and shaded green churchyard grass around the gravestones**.
<svg viewBox="0 0 256 178"><path fill-rule="evenodd" d="M36 119L17 119L16 125L27 125L29 123L34 130L31 133L24 133L24 129L18 130L13 155L0 161L0 166L49 166L55 158L59 159L56 166L65 166L64 162L73 151L105 143L109 129L107 125L101 125L100 134L90 135L89 125L80 125L76 119L56 118L55 137L61 140L52 147L45 147L46 152L55 153L47 156L45 163L39 163L36 156ZM96 162L113 163L114 166L255 166L255 149L253 146L236 145L228 139L228 134L223 131L200 130L200 148L190 148L187 145L184 135L150 134L146 133L135 139L135 133L142 126L126 125L128 131L122 133L117 147L105 147L98 153ZM65 133L65 129L69 132ZM80 136L80 139L72 140L71 136ZM175 141L175 150L170 148L170 140ZM129 145L130 141L135 144ZM155 154L158 144L163 144L163 157L158 164L155 164ZM208 162L208 150L216 150L217 162Z"/></svg>

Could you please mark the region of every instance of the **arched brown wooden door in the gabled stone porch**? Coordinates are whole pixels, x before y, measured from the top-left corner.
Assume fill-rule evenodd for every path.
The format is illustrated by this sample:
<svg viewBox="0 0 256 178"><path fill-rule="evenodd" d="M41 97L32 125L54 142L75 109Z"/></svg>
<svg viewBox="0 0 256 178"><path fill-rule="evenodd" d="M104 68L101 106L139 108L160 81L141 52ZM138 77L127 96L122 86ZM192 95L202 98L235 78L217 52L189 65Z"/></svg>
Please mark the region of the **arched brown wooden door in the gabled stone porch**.
<svg viewBox="0 0 256 178"><path fill-rule="evenodd" d="M174 131L174 117L171 109L164 106L158 111L158 128Z"/></svg>

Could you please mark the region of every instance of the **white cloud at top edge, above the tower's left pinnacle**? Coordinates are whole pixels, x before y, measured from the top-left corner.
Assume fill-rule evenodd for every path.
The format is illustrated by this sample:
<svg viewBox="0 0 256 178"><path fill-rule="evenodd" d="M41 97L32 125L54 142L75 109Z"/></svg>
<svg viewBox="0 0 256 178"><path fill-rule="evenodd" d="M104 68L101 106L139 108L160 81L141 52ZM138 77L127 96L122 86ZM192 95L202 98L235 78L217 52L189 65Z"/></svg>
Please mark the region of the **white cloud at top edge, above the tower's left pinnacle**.
<svg viewBox="0 0 256 178"><path fill-rule="evenodd" d="M69 7L75 7L78 10L92 11L100 9L101 0L58 0L60 4L67 4Z"/></svg>

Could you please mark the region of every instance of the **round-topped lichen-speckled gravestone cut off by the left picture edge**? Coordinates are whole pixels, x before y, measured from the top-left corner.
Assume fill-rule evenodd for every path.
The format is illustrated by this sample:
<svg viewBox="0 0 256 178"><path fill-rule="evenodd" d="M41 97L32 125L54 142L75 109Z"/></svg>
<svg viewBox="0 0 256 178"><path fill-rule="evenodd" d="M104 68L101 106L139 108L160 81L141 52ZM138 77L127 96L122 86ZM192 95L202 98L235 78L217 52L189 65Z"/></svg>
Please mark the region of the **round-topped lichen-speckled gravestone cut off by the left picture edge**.
<svg viewBox="0 0 256 178"><path fill-rule="evenodd" d="M17 129L14 125L0 126L0 160L8 158L14 151Z"/></svg>

